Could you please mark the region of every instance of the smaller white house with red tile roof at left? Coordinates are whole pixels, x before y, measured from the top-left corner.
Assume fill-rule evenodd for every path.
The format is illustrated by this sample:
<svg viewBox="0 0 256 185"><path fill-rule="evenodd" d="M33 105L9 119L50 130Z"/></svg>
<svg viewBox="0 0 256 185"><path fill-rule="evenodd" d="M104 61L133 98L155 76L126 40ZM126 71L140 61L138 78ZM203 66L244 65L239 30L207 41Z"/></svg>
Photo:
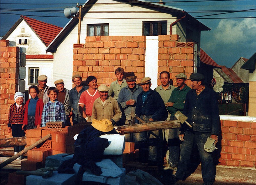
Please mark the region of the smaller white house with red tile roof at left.
<svg viewBox="0 0 256 185"><path fill-rule="evenodd" d="M20 16L19 20L2 39L9 40L12 46L26 48L26 87L37 84L37 76L46 75L47 85L54 85L53 55L46 53L46 47L52 42L61 27L42 21Z"/></svg>

